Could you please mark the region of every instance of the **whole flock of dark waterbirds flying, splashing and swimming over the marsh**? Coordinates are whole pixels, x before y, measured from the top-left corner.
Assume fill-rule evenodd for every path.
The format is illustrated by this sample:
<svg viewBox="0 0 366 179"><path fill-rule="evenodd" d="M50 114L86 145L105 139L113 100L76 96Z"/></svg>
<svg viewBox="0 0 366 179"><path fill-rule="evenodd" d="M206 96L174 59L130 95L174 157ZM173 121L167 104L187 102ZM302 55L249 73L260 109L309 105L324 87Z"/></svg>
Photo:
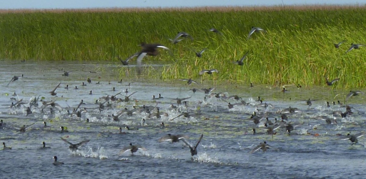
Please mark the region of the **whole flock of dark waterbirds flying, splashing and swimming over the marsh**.
<svg viewBox="0 0 366 179"><path fill-rule="evenodd" d="M212 31L214 33L222 34L220 31L218 31L217 29L214 29L214 28L210 29L210 31ZM248 34L248 38L250 38L256 32L264 32L265 33L266 31L262 28L259 28L259 27L252 27L252 29L250 30L250 32ZM193 37L190 36L186 32L179 32L176 35L175 38L169 39L169 40L172 41L173 44L176 44L176 43L184 40L184 38L190 38L191 40L193 40ZM334 44L334 45L335 45L336 48L339 48L339 46L344 42L346 42L346 41L344 40L344 41L341 41L338 44ZM346 51L346 53L350 52L352 49L359 49L360 46L363 46L363 45L362 44L351 44L351 47ZM120 59L120 61L123 65L128 65L129 61L131 59L133 59L134 57L137 57L137 71L138 71L138 73L141 73L142 59L146 55L150 55L150 56L158 55L158 51L157 51L158 48L163 48L165 50L170 51L169 48L167 48L166 46L163 46L161 44L145 44L145 43L142 43L141 47L142 47L141 51L139 51L137 53L134 53L132 56L128 57L126 60ZM202 53L206 49L207 48L203 49L200 52L196 52L197 57L201 57ZM234 63L238 64L240 66L244 65L243 60L246 58L247 54L248 54L248 52L246 52L240 60L237 60ZM199 75L203 75L205 73L206 74L213 74L214 72L219 73L219 71L216 70L216 69L209 69L209 70L200 71ZM65 76L65 77L68 77L71 73L72 73L72 71L70 71L70 72L64 71L64 73L62 75ZM90 71L90 73L94 73L94 72ZM22 75L22 77L23 77L23 75ZM19 78L20 77L18 77L18 76L14 76L10 80L10 82L7 84L7 86L10 85L12 82L17 81ZM198 82L194 81L191 78L184 78L184 79L181 79L181 80L187 82L187 85L198 84ZM326 85L331 86L335 82L339 81L340 79L336 78L336 79L333 79L333 80L329 81L329 79L327 77L325 77L325 80L326 80ZM90 78L87 79L87 83L89 83L89 85L91 85L91 79ZM96 83L96 85L99 84L99 83L100 82ZM122 83L122 80L119 83ZM51 96L56 96L57 95L56 91L57 91L57 89L60 88L60 86L61 86L61 82L58 83L56 85L56 87L52 91L49 92L51 94ZM83 82L82 86L86 86L86 83ZM252 83L250 84L250 87L253 87ZM298 88L300 88L300 87L301 86L298 85ZM69 86L66 85L66 87L64 87L64 88L66 90L68 90ZM78 89L78 87L75 86L74 89ZM292 131L295 130L295 127L298 127L298 126L302 125L302 124L287 122L287 120L288 120L287 115L294 115L295 113L300 112L300 110L298 108L289 107L289 108L281 110L280 111L281 120L277 120L277 118L275 117L277 115L277 113L272 113L272 112L268 112L266 110L260 109L260 108L268 109L268 108L272 107L271 104L267 104L266 102L263 102L260 99L260 97L258 97L258 100L255 101L255 102L247 103L246 101L242 100L242 98L239 97L238 95L227 96L225 93L222 93L222 92L219 92L219 93L213 92L214 89L215 88L213 88L213 87L209 88L209 89L205 89L205 88L204 89L195 89L195 88L193 88L193 89L190 89L190 91L192 91L193 93L195 93L197 91L201 91L201 92L206 94L205 98L203 98L202 101L199 102L199 104L205 103L205 101L207 101L207 98L213 98L214 97L214 98L217 98L220 101L224 101L225 103L227 103L227 106L228 106L229 109L232 109L235 106L239 106L239 105L240 106L251 105L252 107L255 107L256 108L255 112L253 114L251 114L248 121L254 122L254 124L256 124L256 125L259 124L259 123L263 123L264 128L266 130L266 134L270 134L272 136L277 134L276 131L278 131L280 128L284 128L286 133L288 133L288 135L295 135L296 133L293 133ZM115 91L114 88L113 88L113 91ZM123 96L122 95L123 92L119 92L119 93L114 94L114 95L102 96L102 97L98 98L98 100L96 100L96 103L95 103L98 107L96 107L94 109L91 109L91 111L96 110L96 111L101 112L105 109L113 108L113 105L116 105L117 103L129 102L129 101L132 100L131 96L133 94L137 93L137 92L133 92L133 93L130 93L127 96L127 93L129 93L128 89L126 89L126 91L124 91L124 92L126 93L126 96L124 96L122 98L119 98L118 96ZM285 90L283 88L282 92L287 92L287 90ZM92 91L90 91L89 94L93 94ZM361 92L361 91L350 91L350 93L348 93L347 96L346 96L346 100L348 98L352 97L352 96L357 96L359 94L364 94L364 93ZM14 93L14 96L15 95L16 94ZM161 96L161 94L159 94L158 97L153 96L152 100L158 100L158 99L161 99L161 98L163 98L163 97ZM176 118L180 118L180 117L189 118L189 117L192 117L192 116L201 116L202 115L199 112L193 112L191 109L189 109L187 100L190 99L190 98L191 97L167 98L169 100L176 101L176 104L178 105L178 107L177 107L176 105L171 104L171 109L174 109L174 110L181 113L178 116L172 117L168 121L173 121ZM14 100L15 100L15 98L14 98ZM232 102L228 102L229 100L235 100L235 101L238 101L238 102L235 103L235 104L232 104ZM305 100L305 101L306 101L306 104L310 107L314 100L310 100L310 98L309 98L308 100ZM42 103L41 107L38 106L38 102ZM12 104L10 105L10 108L24 107L25 110L26 110L26 116L31 115L35 111L40 112L40 113L48 113L48 111L50 111L50 113L52 113L52 111L55 111L55 110L59 110L59 111L67 110L67 112L68 112L67 116L69 116L69 117L76 116L78 118L81 118L83 113L87 113L88 111L90 111L90 109L82 108L82 105L85 105L83 100L81 100L79 105L75 108L72 108L72 109L65 108L65 107L61 107L61 105L57 104L56 101L44 101L42 99L39 100L39 96L38 96L38 97L34 97L33 100L31 100L29 102L25 102L22 99L18 100L16 102L12 102ZM336 105L335 102L333 102L333 105ZM342 105L342 104L340 104L340 102L338 101L338 105ZM327 103L327 107L330 107L329 103ZM334 116L339 116L341 118L346 118L347 116L350 116L350 115L353 114L353 112L351 111L351 107L349 107L347 105L344 105L344 107L346 107L346 112L334 111L332 114ZM182 110L184 110L184 109L186 111L182 112ZM147 118L162 118L164 116L170 118L169 114L167 112L161 112L159 107L157 107L157 105L155 105L155 106L145 106L145 105L143 105L141 107L134 106L133 109L124 108L124 109L118 111L116 114L109 115L108 117L112 118L113 121L118 122L120 120L121 116L124 116L124 115L132 116L132 115L135 115L136 113L140 113L140 114L141 113L146 113ZM269 120L269 118L275 118L275 122L271 122ZM319 116L318 119L325 120L327 124L337 124L337 120L335 118L330 118L329 116ZM262 122L262 120L265 120L265 122ZM87 119L87 122L89 122L89 119ZM141 123L144 124L145 119L142 119ZM17 127L11 127L11 128L16 128L17 130L19 130L20 133L25 133L26 130L29 129L30 127L32 127L34 124L35 123L33 123L29 126L24 125L20 128L17 128ZM44 124L45 127L47 126L46 122L44 122L43 124ZM165 127L164 122L160 123L160 126ZM0 128L1 129L6 129L6 125L3 123L3 120L1 120ZM126 126L125 128L127 130L133 130L132 127ZM120 130L119 133L123 134L121 127L119 128L119 130ZM60 131L61 131L61 133L68 132L63 126L60 127ZM253 128L253 135L258 135L258 134L259 133L256 133L256 129ZM355 134L355 135L348 134L348 135L345 135L345 136L340 136L339 139L341 139L341 140L350 140L352 142L352 145L353 145L353 144L358 142L357 138L362 137L363 135L365 135L365 133L358 133L358 134ZM183 141L187 145L187 147L190 148L191 156L197 155L197 147L199 146L199 143L201 142L201 140L203 138L203 134L200 135L200 137L199 137L198 141L195 143L195 145L191 145L187 141L188 138L189 137L187 135L167 134L167 135L161 137L158 140L158 142L170 141L170 142L173 143L173 142ZM61 137L61 140L66 142L69 145L70 150L78 150L79 147L81 147L82 145L89 142L89 140L85 140L85 141L74 144L74 143L71 143L71 142L67 141L65 138L62 138L62 137ZM46 146L45 142L42 142L42 148L43 149L48 148ZM264 142L259 143L259 145L256 146L254 149L252 149L250 153L256 152L258 150L266 151L267 149L270 149L270 148L273 148L273 147L270 146L269 144L267 144L266 141L264 141ZM11 147L6 146L5 142L3 142L3 150L11 150L11 149L12 149ZM124 147L121 150L121 153L130 151L131 154L133 154L133 153L137 152L138 150L147 150L147 149L145 147L141 146L141 145L133 145L132 143L130 143L130 145ZM57 156L54 156L53 159L54 159L54 163L53 163L54 165L64 164L60 161L57 161Z"/></svg>

